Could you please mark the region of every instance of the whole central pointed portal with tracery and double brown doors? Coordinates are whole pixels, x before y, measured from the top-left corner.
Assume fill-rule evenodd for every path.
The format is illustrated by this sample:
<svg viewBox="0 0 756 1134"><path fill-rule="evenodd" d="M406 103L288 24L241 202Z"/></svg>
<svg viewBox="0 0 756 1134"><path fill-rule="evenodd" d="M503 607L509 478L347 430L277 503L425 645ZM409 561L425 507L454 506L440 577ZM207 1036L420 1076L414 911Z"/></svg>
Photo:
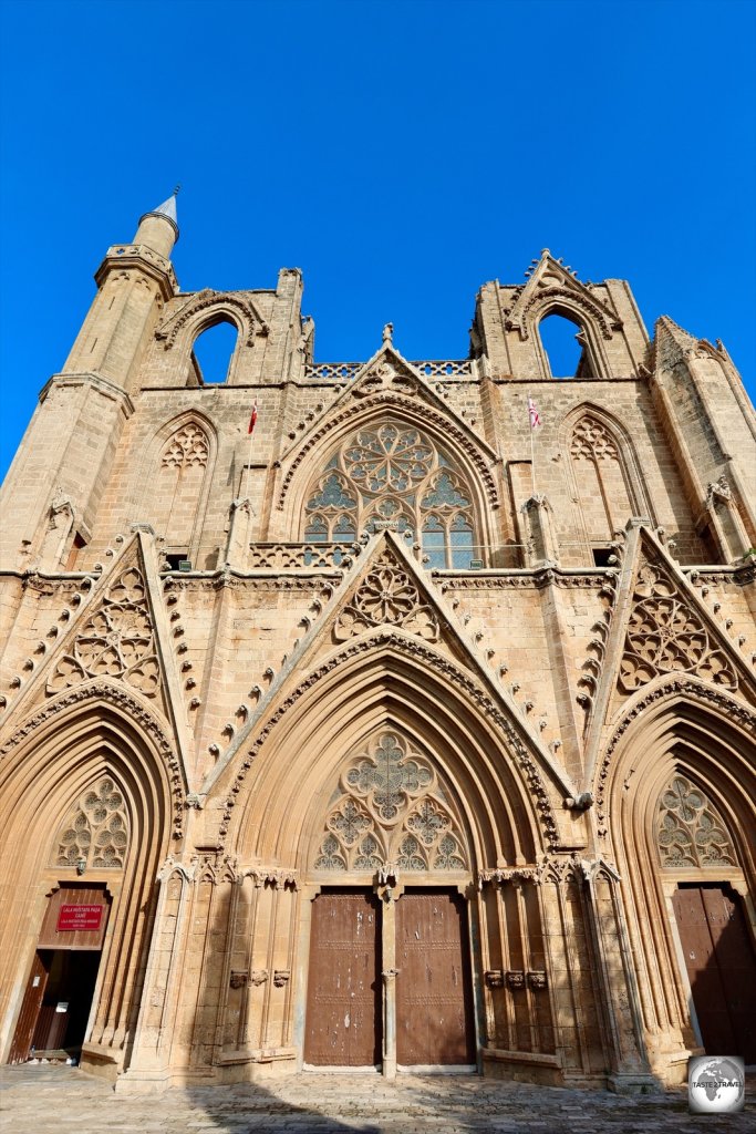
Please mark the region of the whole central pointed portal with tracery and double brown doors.
<svg viewBox="0 0 756 1134"><path fill-rule="evenodd" d="M489 950L477 882L542 849L502 736L419 657L380 642L284 720L257 756L237 849L300 880L300 1063L476 1069Z"/></svg>

